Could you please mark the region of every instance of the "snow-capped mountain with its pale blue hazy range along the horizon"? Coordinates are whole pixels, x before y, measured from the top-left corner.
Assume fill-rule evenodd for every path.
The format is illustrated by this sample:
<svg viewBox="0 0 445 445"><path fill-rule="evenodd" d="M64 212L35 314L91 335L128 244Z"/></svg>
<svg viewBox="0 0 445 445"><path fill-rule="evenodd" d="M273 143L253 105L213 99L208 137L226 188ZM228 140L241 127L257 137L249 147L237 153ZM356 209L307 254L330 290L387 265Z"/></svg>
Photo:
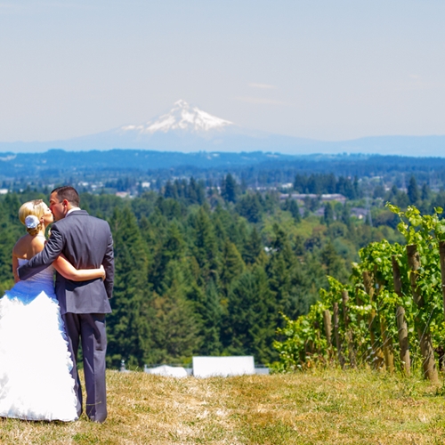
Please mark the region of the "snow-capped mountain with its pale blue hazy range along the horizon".
<svg viewBox="0 0 445 445"><path fill-rule="evenodd" d="M0 152L37 152L51 149L198 151L266 151L303 155L312 153L380 153L384 155L442 156L445 136L375 136L352 141L322 142L247 130L215 117L186 101L145 124L123 125L108 132L65 141L0 142Z"/></svg>

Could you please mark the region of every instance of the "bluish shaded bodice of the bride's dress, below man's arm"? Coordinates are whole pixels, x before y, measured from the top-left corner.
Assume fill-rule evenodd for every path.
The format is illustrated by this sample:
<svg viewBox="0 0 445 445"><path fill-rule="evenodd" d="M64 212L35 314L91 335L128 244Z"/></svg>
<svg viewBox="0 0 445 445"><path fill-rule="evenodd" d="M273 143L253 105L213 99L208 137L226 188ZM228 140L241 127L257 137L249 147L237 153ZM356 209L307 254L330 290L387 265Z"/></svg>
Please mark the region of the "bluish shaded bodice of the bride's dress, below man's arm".
<svg viewBox="0 0 445 445"><path fill-rule="evenodd" d="M19 258L19 265L28 263L28 260ZM43 271L36 273L29 279L20 280L12 287L11 290L6 291L9 297L17 297L21 301L30 302L36 298L37 295L44 292L52 299L56 299L54 294L54 268L48 266Z"/></svg>

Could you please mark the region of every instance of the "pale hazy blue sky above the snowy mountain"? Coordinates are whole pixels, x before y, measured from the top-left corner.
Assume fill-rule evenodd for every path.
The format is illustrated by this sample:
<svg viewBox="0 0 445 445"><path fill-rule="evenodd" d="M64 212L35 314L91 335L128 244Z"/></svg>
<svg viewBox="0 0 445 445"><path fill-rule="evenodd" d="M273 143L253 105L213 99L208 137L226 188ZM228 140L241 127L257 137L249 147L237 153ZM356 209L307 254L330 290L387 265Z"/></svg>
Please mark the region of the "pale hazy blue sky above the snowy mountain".
<svg viewBox="0 0 445 445"><path fill-rule="evenodd" d="M139 124L183 99L320 140L445 134L442 0L0 0L0 141Z"/></svg>

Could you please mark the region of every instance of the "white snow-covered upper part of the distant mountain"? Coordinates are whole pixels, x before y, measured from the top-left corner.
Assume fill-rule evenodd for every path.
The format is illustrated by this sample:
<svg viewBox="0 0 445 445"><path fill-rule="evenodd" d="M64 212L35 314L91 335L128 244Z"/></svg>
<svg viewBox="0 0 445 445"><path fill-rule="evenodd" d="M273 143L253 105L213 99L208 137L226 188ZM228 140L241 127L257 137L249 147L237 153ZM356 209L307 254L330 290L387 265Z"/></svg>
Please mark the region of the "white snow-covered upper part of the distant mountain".
<svg viewBox="0 0 445 445"><path fill-rule="evenodd" d="M233 125L229 120L212 116L198 107L191 107L186 101L180 99L168 113L149 120L142 125L126 125L120 128L122 133L154 134L167 133L172 130L187 133L206 133L211 130L222 130Z"/></svg>

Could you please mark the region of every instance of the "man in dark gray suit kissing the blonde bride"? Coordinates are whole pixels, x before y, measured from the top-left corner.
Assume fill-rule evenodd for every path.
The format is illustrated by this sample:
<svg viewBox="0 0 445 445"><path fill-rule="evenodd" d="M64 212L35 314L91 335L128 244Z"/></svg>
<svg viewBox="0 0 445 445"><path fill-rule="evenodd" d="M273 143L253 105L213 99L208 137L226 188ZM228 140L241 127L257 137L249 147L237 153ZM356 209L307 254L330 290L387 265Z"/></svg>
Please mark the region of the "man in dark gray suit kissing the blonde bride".
<svg viewBox="0 0 445 445"><path fill-rule="evenodd" d="M55 292L61 306L62 319L69 337L69 352L74 367L77 394L77 415L82 413L82 389L77 374L77 350L82 342L86 386L86 414L102 423L107 418L105 388L105 353L107 335L105 314L111 312L109 298L113 292L113 239L109 224L90 216L79 208L77 191L69 186L54 189L50 209L56 223L44 250L34 256L18 272L20 279L28 279L44 270L59 256L64 255L76 269L105 268L106 279L70 281L56 276Z"/></svg>

